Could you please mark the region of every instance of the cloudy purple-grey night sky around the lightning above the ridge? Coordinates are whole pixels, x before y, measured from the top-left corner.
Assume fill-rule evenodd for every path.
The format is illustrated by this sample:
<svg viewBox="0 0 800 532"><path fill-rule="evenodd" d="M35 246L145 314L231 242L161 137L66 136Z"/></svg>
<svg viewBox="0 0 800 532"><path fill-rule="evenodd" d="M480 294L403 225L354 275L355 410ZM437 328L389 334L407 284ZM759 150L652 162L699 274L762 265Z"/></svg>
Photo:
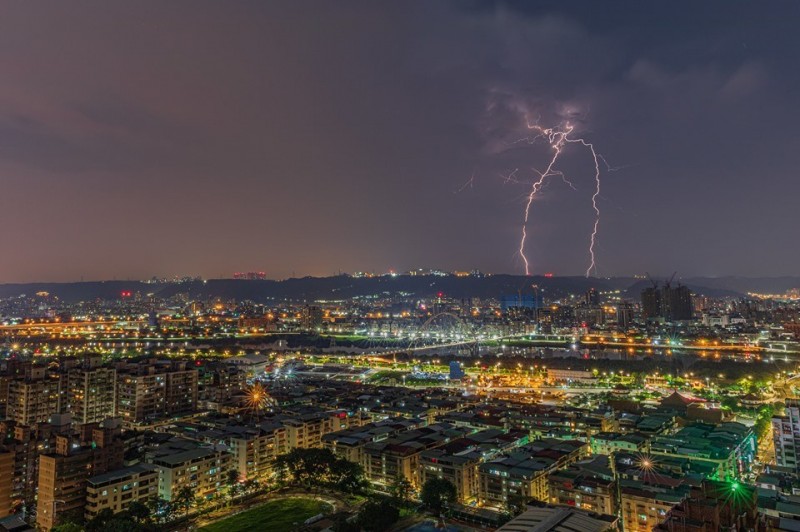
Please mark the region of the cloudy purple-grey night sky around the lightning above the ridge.
<svg viewBox="0 0 800 532"><path fill-rule="evenodd" d="M535 5L533 5L535 4ZM567 5L563 5L567 4ZM6 2L0 282L521 273L567 120L603 276L800 274L800 2ZM582 274L592 162L534 201ZM515 169L514 179L508 176Z"/></svg>

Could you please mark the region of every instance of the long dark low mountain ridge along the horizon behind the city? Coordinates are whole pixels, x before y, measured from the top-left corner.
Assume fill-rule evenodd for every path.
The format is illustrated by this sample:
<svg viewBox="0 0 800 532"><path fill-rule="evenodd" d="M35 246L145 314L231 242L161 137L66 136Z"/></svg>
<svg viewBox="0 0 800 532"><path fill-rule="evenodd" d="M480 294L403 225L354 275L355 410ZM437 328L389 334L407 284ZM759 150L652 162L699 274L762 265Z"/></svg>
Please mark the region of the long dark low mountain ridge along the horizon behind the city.
<svg viewBox="0 0 800 532"><path fill-rule="evenodd" d="M656 279L659 281L659 279ZM663 282L661 280L660 282ZM800 277L692 277L679 279L692 291L711 297L739 297L747 292L784 293L800 287ZM489 275L484 277L456 276L381 276L355 278L347 275L333 277L303 277L273 280L209 279L184 283L153 284L141 281L91 281L73 283L0 284L0 298L21 294L32 295L45 291L74 303L93 299L117 299L123 291L171 297L185 293L191 299L222 298L252 300L268 303L274 300L315 301L344 300L357 296L405 293L415 297L430 297L442 292L454 298L499 298L520 292L532 294L537 285L546 298L581 294L590 288L599 291L620 290L638 299L650 281L633 277L585 278L543 277L524 275Z"/></svg>

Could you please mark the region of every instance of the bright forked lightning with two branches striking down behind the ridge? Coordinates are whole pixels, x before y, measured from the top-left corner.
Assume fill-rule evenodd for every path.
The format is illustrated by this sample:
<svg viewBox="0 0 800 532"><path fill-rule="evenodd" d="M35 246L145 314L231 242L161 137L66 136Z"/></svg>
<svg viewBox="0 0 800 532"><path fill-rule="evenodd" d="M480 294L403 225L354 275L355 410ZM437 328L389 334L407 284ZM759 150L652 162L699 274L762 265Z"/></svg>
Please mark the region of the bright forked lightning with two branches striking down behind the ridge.
<svg viewBox="0 0 800 532"><path fill-rule="evenodd" d="M595 275L597 275L597 263L595 262L595 245L597 244L597 231L600 227L600 207L597 204L597 200L600 197L600 161L608 166L608 163L605 162L602 155L598 154L594 148L594 145L591 142L586 141L583 138L573 138L570 137L570 134L575 130L575 126L571 125L569 122L564 124L563 127L551 127L545 128L539 126L538 124L531 124L530 122L527 123L528 129L533 131L535 134L532 137L527 137L524 140L529 144L533 144L537 142L539 139L544 139L549 145L550 148L553 150L553 155L550 158L550 162L548 163L547 167L544 169L543 172L536 173L539 175L539 179L533 182L531 185L531 190L527 195L527 199L525 202L525 216L522 222L522 237L520 238L519 242L519 254L522 257L522 261L525 263L525 275L530 275L530 261L528 260L527 255L525 254L525 242L528 239L528 220L530 219L531 213L531 205L533 204L534 198L536 195L541 191L542 187L548 180L548 178L557 176L560 177L564 183L569 185L572 189L575 189L575 186L569 181L563 172L556 169L556 164L558 163L561 154L564 152L564 148L568 144L579 144L580 146L586 148L592 156L592 160L594 161L594 181L595 181L595 188L594 193L592 194L592 209L594 210L594 225L592 226L592 231L589 235L589 266L586 268L586 277L591 275L592 271L594 271Z"/></svg>

